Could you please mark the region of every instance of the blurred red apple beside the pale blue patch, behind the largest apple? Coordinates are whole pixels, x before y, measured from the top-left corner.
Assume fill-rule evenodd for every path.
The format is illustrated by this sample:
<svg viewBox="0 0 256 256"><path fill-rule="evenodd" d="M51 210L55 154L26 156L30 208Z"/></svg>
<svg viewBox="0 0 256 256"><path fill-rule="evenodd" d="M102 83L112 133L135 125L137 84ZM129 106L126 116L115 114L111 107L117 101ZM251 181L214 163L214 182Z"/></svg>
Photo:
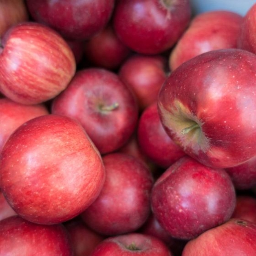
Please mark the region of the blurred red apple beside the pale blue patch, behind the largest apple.
<svg viewBox="0 0 256 256"><path fill-rule="evenodd" d="M242 19L242 15L225 10L196 15L170 53L170 70L201 53L236 48Z"/></svg>

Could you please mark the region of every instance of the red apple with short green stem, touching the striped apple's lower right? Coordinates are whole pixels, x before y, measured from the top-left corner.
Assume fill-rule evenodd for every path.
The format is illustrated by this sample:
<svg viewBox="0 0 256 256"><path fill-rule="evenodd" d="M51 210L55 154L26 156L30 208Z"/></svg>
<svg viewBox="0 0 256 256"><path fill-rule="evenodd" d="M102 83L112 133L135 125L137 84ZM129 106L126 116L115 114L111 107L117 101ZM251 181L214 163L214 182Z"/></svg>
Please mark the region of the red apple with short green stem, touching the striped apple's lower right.
<svg viewBox="0 0 256 256"><path fill-rule="evenodd" d="M53 99L51 112L78 120L101 154L128 141L139 114L128 87L104 68L77 71L68 88Z"/></svg>

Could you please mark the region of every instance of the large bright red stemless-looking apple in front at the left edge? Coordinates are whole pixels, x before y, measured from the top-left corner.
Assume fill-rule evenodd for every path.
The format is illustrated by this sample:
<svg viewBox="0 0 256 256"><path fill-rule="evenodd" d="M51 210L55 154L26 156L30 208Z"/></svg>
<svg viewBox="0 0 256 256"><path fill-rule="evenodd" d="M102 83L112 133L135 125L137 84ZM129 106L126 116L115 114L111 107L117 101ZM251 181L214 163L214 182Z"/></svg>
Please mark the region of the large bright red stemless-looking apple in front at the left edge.
<svg viewBox="0 0 256 256"><path fill-rule="evenodd" d="M101 155L80 123L53 114L16 129L0 154L0 166L7 202L21 217L42 224L79 215L105 180Z"/></svg>

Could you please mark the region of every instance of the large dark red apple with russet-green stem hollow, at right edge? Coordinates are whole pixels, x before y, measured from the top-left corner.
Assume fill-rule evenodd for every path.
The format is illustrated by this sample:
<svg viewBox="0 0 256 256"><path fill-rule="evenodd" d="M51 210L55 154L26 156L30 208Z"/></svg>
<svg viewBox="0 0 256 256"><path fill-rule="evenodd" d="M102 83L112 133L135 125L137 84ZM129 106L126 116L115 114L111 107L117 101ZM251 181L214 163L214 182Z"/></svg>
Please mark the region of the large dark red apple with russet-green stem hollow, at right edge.
<svg viewBox="0 0 256 256"><path fill-rule="evenodd" d="M181 64L158 95L167 134L207 166L227 168L254 157L255 73L255 54L241 49L213 50Z"/></svg>

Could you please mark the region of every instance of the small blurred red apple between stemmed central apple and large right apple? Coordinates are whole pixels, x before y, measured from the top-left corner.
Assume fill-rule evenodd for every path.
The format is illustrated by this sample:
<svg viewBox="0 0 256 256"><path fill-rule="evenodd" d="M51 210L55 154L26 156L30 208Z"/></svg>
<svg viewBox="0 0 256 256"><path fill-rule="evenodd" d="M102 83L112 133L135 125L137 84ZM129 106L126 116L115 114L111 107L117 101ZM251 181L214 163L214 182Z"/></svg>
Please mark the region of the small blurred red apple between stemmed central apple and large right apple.
<svg viewBox="0 0 256 256"><path fill-rule="evenodd" d="M118 75L135 94L140 111L157 101L158 92L167 77L166 63L160 54L133 54L120 65Z"/></svg>

